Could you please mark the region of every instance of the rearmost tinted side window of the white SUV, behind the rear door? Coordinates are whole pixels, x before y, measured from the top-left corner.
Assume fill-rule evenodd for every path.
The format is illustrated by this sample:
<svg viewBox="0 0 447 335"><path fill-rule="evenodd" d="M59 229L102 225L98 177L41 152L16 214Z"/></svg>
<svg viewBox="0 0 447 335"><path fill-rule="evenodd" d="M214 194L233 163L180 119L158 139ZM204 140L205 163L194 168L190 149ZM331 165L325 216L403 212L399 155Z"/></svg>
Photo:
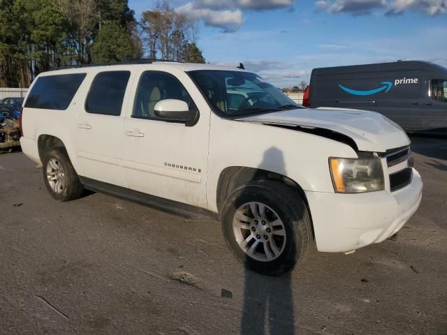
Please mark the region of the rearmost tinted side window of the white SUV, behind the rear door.
<svg viewBox="0 0 447 335"><path fill-rule="evenodd" d="M46 75L38 77L24 107L66 110L78 91L86 73Z"/></svg>

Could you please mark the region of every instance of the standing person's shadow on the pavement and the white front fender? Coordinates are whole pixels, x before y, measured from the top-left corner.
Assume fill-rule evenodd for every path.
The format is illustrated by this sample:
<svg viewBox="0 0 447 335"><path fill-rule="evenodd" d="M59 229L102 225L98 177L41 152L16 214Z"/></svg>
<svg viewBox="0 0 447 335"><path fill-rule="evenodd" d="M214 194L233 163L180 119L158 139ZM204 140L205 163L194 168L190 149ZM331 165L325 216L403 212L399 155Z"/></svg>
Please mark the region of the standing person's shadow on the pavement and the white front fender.
<svg viewBox="0 0 447 335"><path fill-rule="evenodd" d="M259 168L265 168L268 162L273 162L278 172L285 174L284 157L279 149L271 147L265 151ZM258 177L262 179L265 175L255 175L255 179ZM294 334L292 293L291 272L265 276L246 268L240 334Z"/></svg>

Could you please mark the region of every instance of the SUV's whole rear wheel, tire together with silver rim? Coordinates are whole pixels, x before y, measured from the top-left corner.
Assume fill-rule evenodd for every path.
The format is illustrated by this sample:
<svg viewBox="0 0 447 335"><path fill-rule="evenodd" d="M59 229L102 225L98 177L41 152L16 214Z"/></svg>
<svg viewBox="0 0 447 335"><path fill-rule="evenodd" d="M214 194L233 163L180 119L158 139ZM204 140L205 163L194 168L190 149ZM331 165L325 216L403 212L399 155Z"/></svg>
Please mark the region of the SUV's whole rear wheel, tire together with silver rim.
<svg viewBox="0 0 447 335"><path fill-rule="evenodd" d="M42 163L43 181L52 198L59 201L80 198L84 186L64 148L55 148L47 152Z"/></svg>

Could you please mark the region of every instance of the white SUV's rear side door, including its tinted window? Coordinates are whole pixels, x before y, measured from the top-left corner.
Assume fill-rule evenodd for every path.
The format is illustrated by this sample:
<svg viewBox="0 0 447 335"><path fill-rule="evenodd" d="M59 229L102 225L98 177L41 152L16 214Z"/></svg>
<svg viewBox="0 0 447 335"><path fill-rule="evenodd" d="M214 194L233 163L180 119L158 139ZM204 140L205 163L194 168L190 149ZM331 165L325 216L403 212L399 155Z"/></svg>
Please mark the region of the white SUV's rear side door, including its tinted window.
<svg viewBox="0 0 447 335"><path fill-rule="evenodd" d="M90 78L91 80L91 78ZM129 95L128 70L96 73L76 114L76 147L82 177L125 186L121 166L122 110Z"/></svg>

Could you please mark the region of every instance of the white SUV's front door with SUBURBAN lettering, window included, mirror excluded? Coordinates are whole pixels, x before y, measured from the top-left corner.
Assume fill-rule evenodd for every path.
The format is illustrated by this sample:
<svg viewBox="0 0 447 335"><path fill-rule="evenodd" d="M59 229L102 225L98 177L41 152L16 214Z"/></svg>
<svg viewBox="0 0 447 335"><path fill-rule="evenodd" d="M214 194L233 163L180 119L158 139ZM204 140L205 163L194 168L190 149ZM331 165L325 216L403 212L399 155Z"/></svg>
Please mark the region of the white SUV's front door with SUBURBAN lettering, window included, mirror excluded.
<svg viewBox="0 0 447 335"><path fill-rule="evenodd" d="M145 71L135 84L135 101L122 132L122 165L129 188L206 208L209 107L182 71ZM156 117L154 107L164 99L201 108L196 124Z"/></svg>

